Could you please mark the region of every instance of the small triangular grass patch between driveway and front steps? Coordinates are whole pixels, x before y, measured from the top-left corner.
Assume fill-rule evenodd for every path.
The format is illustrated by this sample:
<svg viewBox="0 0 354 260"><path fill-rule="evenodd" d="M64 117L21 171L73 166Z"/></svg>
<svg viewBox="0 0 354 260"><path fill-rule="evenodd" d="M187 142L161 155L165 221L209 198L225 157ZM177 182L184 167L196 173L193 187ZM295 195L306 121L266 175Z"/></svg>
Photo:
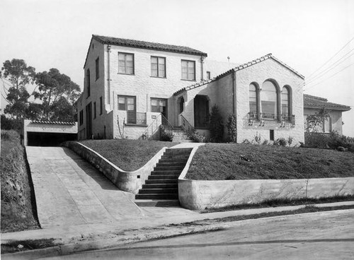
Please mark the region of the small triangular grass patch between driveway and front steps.
<svg viewBox="0 0 354 260"><path fill-rule="evenodd" d="M95 150L122 170L134 171L144 166L164 147L176 143L147 140L86 140L84 146Z"/></svg>

